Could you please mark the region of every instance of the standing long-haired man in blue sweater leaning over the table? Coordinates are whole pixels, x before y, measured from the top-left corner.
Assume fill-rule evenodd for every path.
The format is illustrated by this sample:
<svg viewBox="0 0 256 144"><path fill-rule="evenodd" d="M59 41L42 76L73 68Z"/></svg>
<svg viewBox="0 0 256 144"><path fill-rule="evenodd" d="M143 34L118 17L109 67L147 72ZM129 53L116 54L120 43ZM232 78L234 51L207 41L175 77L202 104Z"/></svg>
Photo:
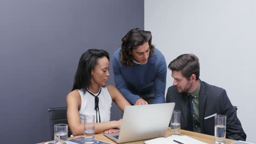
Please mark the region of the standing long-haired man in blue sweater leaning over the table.
<svg viewBox="0 0 256 144"><path fill-rule="evenodd" d="M149 31L131 29L114 52L115 86L132 105L165 103L166 61Z"/></svg>

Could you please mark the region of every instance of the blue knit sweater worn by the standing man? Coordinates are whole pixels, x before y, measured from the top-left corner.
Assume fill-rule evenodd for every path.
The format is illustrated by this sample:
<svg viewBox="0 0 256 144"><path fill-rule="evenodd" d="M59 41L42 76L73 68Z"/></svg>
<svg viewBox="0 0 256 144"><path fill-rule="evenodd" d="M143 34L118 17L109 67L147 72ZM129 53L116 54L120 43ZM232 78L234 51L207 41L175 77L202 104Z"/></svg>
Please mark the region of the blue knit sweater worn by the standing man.
<svg viewBox="0 0 256 144"><path fill-rule="evenodd" d="M140 94L154 93L154 104L165 103L166 61L164 55L155 49L146 64L122 65L120 48L114 52L113 71L115 86L127 101L135 104Z"/></svg>

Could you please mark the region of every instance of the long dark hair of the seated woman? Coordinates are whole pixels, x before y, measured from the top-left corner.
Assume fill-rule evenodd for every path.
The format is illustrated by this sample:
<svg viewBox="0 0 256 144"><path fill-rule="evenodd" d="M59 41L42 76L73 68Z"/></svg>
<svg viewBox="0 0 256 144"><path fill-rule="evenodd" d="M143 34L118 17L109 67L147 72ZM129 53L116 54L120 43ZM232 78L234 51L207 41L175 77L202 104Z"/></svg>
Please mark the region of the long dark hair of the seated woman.
<svg viewBox="0 0 256 144"><path fill-rule="evenodd" d="M108 52L105 50L90 49L83 53L75 73L72 91L83 89L83 92L86 92L91 84L91 70L97 65L98 58L102 57L107 57L109 61Z"/></svg>

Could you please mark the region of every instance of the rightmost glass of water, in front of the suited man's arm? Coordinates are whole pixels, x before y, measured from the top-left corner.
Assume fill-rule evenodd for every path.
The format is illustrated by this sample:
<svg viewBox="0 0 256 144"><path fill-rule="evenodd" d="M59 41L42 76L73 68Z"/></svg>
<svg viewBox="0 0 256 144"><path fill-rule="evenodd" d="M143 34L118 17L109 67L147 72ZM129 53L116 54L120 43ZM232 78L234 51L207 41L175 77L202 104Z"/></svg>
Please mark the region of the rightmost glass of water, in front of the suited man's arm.
<svg viewBox="0 0 256 144"><path fill-rule="evenodd" d="M226 140L226 116L216 115L214 120L215 143L223 144Z"/></svg>

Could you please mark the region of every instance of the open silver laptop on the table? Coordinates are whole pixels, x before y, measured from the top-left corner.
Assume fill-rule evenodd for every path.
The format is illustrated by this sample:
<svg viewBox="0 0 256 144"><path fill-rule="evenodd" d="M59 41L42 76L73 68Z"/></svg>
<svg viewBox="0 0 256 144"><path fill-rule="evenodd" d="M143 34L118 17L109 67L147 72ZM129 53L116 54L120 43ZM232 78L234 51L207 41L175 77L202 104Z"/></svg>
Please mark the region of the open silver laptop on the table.
<svg viewBox="0 0 256 144"><path fill-rule="evenodd" d="M174 103L126 106L119 133L104 134L117 143L164 137Z"/></svg>

